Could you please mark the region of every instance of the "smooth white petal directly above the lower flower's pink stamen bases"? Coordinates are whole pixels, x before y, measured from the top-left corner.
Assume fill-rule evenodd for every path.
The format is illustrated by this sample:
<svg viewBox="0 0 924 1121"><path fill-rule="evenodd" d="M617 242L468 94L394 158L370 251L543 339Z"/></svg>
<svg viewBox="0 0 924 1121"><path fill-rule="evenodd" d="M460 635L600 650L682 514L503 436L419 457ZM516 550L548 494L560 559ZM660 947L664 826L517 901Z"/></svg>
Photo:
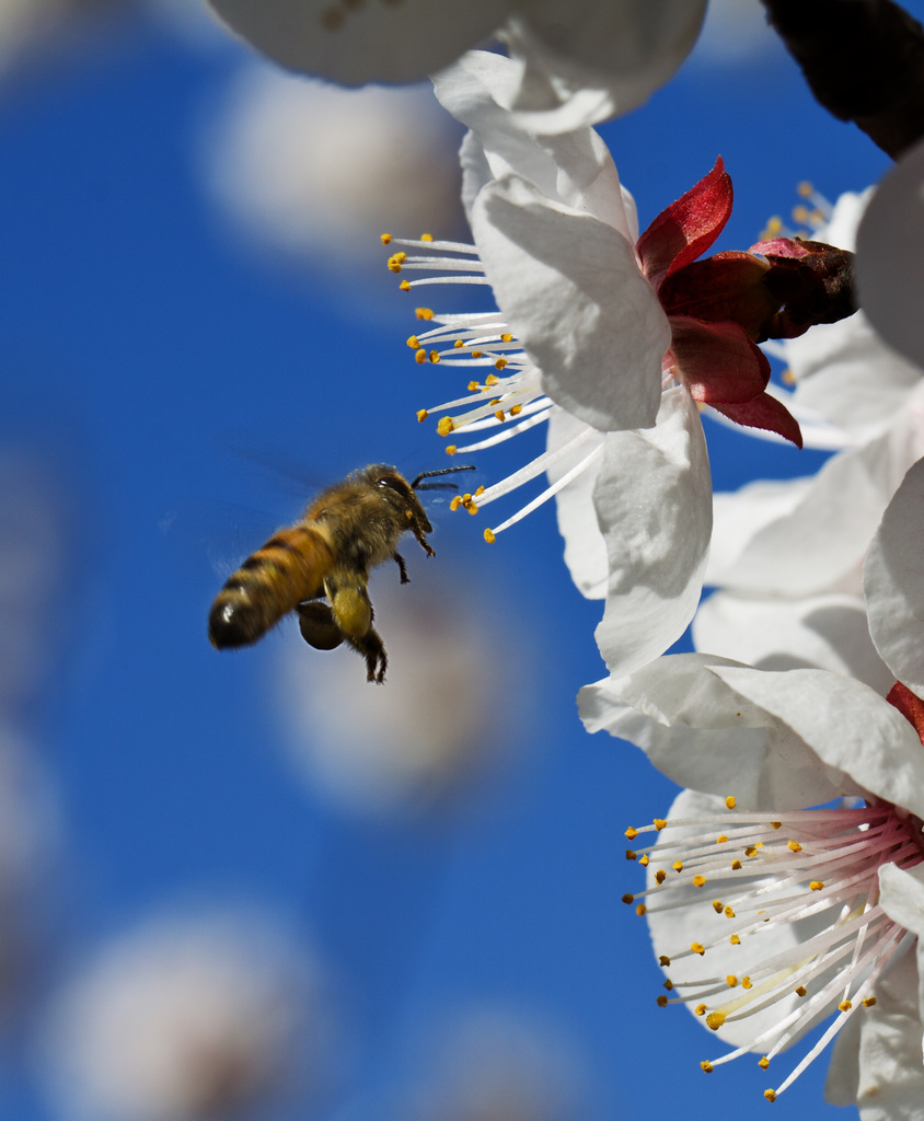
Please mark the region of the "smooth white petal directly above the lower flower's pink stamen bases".
<svg viewBox="0 0 924 1121"><path fill-rule="evenodd" d="M824 669L718 667L731 688L777 716L830 768L886 802L924 814L924 751L897 708Z"/></svg>

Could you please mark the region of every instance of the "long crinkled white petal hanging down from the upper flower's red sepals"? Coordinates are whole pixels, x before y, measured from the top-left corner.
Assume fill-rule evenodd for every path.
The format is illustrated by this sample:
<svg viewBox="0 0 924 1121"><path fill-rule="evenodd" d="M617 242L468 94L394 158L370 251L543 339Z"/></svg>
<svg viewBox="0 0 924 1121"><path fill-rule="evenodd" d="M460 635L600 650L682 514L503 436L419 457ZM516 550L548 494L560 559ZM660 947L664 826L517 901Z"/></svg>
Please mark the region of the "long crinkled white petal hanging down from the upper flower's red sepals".
<svg viewBox="0 0 924 1121"><path fill-rule="evenodd" d="M610 569L597 645L610 673L628 674L676 642L703 586L711 478L684 386L664 395L654 429L607 436L594 503Z"/></svg>

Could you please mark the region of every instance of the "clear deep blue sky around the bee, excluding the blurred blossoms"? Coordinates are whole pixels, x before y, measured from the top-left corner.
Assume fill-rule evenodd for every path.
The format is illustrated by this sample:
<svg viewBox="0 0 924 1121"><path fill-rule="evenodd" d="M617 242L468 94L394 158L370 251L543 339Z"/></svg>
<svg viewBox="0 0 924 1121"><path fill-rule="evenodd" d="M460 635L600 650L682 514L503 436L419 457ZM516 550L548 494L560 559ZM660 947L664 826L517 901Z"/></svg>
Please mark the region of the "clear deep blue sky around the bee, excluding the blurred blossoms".
<svg viewBox="0 0 924 1121"><path fill-rule="evenodd" d="M673 794L640 752L576 719L578 689L603 675L601 604L573 589L551 507L490 550L478 522L431 508L440 555L427 563L445 559L455 581L437 594L458 595L488 649L502 648L495 673L518 741L437 813L363 817L294 775L277 711L290 633L231 656L206 641L220 577L203 541L243 554L301 506L235 448L303 464L317 484L375 461L408 474L443 465L414 414L444 390L408 372L414 324L394 278L362 277L351 295L323 259L276 268L231 235L204 186L203 114L242 57L126 18L0 87L0 442L52 480L64 558L44 676L18 719L65 839L56 929L0 1062L0 1115L58 1115L30 1057L33 1021L86 953L177 900L246 898L327 963L350 1040L331 1096L272 1121L387 1118L426 1076L422 1040L489 1001L571 1040L588 1121L696 1121L717 1091L729 1121L750 1118L766 1076L739 1062L697 1081L713 1047L686 1013L655 1007L647 933L619 902L637 874L621 831ZM736 206L718 248L747 248L798 180L833 200L888 166L815 105L779 50L733 66L694 58L601 131L643 228L721 154ZM819 463L726 428L708 438L717 489ZM523 455L505 445L478 466L492 479ZM239 506L257 508L258 528L238 526ZM209 507L202 520L185 512ZM412 596L424 558L404 552ZM355 659L343 673L371 688ZM825 1066L775 1117L834 1117L820 1101Z"/></svg>

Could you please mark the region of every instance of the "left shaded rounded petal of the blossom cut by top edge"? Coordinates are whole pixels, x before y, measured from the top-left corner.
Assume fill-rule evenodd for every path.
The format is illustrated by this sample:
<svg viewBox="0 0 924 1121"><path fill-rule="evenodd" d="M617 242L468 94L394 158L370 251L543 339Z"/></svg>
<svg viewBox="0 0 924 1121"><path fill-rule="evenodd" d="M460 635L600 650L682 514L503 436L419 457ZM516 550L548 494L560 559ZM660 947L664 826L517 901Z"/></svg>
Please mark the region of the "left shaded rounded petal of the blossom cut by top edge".
<svg viewBox="0 0 924 1121"><path fill-rule="evenodd" d="M238 35L275 62L348 85L425 77L484 39L511 7L509 0L342 6L330 0L209 2Z"/></svg>

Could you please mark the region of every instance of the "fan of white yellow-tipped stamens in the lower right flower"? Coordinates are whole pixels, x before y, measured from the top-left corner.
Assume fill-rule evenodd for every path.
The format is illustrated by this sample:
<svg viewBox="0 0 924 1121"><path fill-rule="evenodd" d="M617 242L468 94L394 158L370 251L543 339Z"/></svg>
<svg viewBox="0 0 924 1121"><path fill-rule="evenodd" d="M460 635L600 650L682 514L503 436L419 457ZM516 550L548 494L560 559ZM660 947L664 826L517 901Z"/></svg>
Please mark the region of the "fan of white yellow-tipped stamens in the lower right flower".
<svg viewBox="0 0 924 1121"><path fill-rule="evenodd" d="M734 799L727 806L733 809ZM671 970L664 984L671 995L658 1004L690 1004L713 1030L774 1006L779 1013L769 1028L761 1017L763 1029L746 1045L701 1063L702 1069L711 1073L749 1051L761 1054L766 1069L837 1011L785 1081L765 1091L776 1101L858 1008L876 1003L876 981L914 942L879 906L878 870L924 860L921 822L884 803L788 812L775 821L746 814L656 819L626 836L632 841L665 827L656 844L627 851L628 860L647 869L648 887L623 902L648 916L695 906L703 923L689 945L660 956ZM782 926L792 928L792 943L761 958L761 934Z"/></svg>

